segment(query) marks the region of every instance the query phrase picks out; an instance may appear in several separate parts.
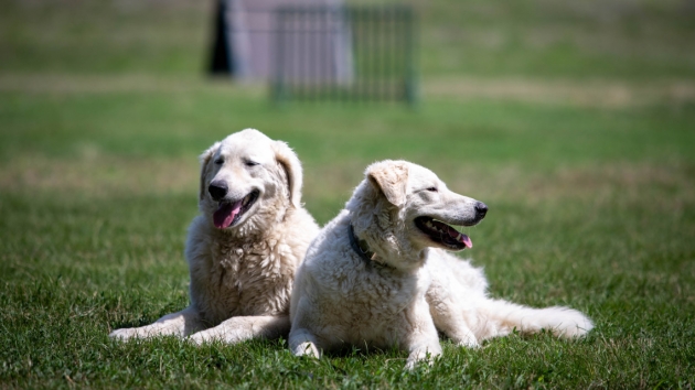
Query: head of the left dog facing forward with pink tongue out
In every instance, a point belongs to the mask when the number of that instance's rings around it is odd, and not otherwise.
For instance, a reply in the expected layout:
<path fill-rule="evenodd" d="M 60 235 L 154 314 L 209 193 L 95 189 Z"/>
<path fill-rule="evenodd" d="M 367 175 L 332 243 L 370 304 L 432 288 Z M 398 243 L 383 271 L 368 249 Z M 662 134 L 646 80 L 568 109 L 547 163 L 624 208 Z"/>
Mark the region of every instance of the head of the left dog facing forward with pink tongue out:
<path fill-rule="evenodd" d="M 218 229 L 274 223 L 300 207 L 299 159 L 282 141 L 246 129 L 216 142 L 201 155 L 201 213 Z"/>

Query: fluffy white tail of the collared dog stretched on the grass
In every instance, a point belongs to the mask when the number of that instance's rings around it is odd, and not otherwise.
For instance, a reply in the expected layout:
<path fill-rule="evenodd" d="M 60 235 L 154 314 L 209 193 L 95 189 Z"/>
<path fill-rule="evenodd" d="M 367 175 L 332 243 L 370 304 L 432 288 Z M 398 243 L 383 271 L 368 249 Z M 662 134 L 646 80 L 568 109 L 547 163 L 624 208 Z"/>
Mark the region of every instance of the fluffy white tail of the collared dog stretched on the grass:
<path fill-rule="evenodd" d="M 576 338 L 594 328 L 582 313 L 562 306 L 533 308 L 503 300 L 488 300 L 479 307 L 475 336 L 479 340 L 504 336 L 514 329 L 523 334 L 546 329 L 555 336 Z"/>

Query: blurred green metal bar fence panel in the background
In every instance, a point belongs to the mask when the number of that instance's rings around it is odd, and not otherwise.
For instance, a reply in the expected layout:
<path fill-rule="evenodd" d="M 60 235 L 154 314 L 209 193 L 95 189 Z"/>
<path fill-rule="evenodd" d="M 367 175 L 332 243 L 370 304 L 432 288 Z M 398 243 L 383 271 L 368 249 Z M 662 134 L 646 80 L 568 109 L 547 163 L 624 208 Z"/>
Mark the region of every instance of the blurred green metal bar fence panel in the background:
<path fill-rule="evenodd" d="M 275 101 L 416 100 L 408 7 L 280 7 L 274 11 Z"/>

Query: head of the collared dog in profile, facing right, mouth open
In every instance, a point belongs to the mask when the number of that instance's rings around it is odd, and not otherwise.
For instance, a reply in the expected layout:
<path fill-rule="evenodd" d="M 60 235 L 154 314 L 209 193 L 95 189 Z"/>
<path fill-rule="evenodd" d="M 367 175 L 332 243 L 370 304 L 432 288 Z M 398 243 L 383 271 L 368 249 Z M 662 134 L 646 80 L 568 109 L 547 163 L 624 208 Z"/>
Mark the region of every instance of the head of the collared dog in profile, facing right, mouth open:
<path fill-rule="evenodd" d="M 472 247 L 470 238 L 451 226 L 480 223 L 488 212 L 482 202 L 450 191 L 435 173 L 406 161 L 374 163 L 365 176 L 348 208 L 355 231 L 375 234 L 371 245 L 387 240 L 400 252 Z"/>

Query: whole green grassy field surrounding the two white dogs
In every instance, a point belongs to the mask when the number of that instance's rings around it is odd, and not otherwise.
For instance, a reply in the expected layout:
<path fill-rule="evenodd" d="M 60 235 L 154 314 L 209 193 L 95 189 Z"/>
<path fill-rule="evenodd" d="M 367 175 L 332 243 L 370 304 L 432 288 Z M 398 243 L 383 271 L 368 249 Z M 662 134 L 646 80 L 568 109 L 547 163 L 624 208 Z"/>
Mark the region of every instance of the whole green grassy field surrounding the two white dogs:
<path fill-rule="evenodd" d="M 685 2 L 419 4 L 425 96 L 414 110 L 275 108 L 256 87 L 200 77 L 205 4 L 71 6 L 2 1 L 0 12 L 0 388 L 695 383 Z M 443 357 L 415 372 L 404 353 L 363 346 L 310 360 L 285 340 L 110 340 L 188 304 L 197 155 L 245 127 L 297 151 L 320 223 L 375 160 L 432 169 L 491 208 L 464 254 L 493 296 L 569 305 L 596 329 L 478 350 L 442 340 Z"/>

